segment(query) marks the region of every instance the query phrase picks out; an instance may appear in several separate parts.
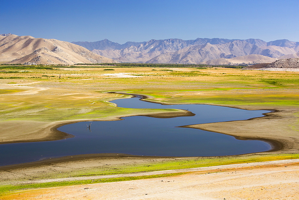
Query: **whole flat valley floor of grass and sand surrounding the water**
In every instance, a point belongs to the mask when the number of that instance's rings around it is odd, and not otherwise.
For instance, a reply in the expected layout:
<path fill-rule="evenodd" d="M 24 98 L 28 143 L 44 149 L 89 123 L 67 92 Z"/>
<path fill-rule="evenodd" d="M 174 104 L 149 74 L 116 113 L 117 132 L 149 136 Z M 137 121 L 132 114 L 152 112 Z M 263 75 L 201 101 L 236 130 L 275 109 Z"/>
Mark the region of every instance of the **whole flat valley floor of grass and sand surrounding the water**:
<path fill-rule="evenodd" d="M 242 71 L 226 68 L 155 68 L 154 71 L 153 68 L 114 68 L 115 71 L 112 72 L 115 74 L 127 73 L 135 76 L 119 78 L 107 77 L 103 69 L 105 68 L 57 67 L 47 70 L 30 69 L 28 72 L 22 72 L 24 70 L 1 72 L 0 143 L 59 140 L 71 137 L 56 130 L 65 123 L 117 120 L 118 117 L 145 114 L 167 113 L 169 116 L 184 114 L 181 110 L 144 111 L 115 107 L 109 103 L 113 99 L 129 96 L 107 92 L 122 91 L 147 95 L 148 101 L 166 104 L 213 104 L 249 110 L 276 111 L 268 113 L 265 117 L 245 121 L 191 125 L 190 128 L 229 134 L 238 139 L 266 139 L 275 143 L 275 151 L 213 158 L 214 161 L 217 159 L 218 161 L 206 166 L 298 158 L 298 72 Z M 60 75 L 62 78 L 59 78 Z M 211 162 L 204 157 L 136 158 L 125 155 L 122 156 L 126 157 L 124 159 L 120 158 L 121 155 L 108 155 L 103 159 L 101 156 L 94 156 L 86 159 L 86 156 L 82 155 L 51 162 L 45 160 L 33 165 L 2 167 L 0 193 L 4 185 L 22 185 L 24 181 L 31 181 L 29 179 L 40 181 L 92 174 L 128 174 L 166 170 L 170 169 L 169 167 L 182 169 Z M 190 163 L 193 166 L 189 166 Z M 296 197 L 298 199 L 298 194 L 293 190 L 299 188 L 299 180 L 296 179 L 297 166 L 298 163 L 287 167 L 244 168 L 235 170 L 236 173 L 234 169 L 227 173 L 192 172 L 155 179 L 38 189 L 22 193 L 25 196 L 20 196 L 20 199 L 68 199 L 72 195 L 77 199 L 296 199 Z M 139 171 L 134 171 L 137 167 Z M 147 167 L 152 168 L 147 170 Z M 19 197 L 10 196 L 10 198 Z"/>

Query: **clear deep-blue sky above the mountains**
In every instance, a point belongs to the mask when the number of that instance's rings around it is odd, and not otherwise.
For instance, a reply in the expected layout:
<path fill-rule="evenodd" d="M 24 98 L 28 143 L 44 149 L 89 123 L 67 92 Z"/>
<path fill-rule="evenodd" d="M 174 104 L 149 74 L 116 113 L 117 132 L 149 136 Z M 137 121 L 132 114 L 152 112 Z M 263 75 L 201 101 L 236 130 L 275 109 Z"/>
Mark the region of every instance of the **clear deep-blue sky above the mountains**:
<path fill-rule="evenodd" d="M 299 0 L 0 0 L 0 34 L 63 41 L 288 39 Z"/>

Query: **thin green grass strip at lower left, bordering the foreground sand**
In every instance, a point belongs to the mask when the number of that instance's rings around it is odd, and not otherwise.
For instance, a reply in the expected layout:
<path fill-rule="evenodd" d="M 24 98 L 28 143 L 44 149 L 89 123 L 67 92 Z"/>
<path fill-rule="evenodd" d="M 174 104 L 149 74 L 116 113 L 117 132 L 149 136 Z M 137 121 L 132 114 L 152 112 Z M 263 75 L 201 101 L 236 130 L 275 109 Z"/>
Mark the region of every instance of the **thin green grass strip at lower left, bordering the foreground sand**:
<path fill-rule="evenodd" d="M 108 182 L 117 182 L 117 181 L 132 181 L 132 180 L 140 180 L 140 179 L 148 179 L 148 178 L 161 178 L 167 176 L 181 175 L 185 173 L 189 173 L 189 172 L 148 175 L 148 176 L 120 177 L 120 178 L 101 178 L 101 179 L 80 180 L 80 181 L 61 181 L 61 182 L 49 182 L 49 183 L 37 183 L 37 184 L 4 185 L 4 186 L 0 186 L 0 196 L 7 195 L 9 193 L 15 193 L 20 190 L 70 186 L 70 185 L 80 185 L 80 184 L 108 183 Z"/>

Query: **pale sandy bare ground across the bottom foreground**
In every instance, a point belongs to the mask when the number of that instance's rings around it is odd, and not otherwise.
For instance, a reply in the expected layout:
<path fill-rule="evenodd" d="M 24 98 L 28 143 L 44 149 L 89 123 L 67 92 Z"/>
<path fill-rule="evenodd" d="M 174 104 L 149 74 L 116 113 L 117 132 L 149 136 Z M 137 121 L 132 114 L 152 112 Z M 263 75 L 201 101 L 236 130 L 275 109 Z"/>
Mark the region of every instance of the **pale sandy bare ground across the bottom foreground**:
<path fill-rule="evenodd" d="M 264 166 L 231 166 L 163 178 L 28 190 L 2 199 L 299 198 L 298 163 L 273 161 Z"/>

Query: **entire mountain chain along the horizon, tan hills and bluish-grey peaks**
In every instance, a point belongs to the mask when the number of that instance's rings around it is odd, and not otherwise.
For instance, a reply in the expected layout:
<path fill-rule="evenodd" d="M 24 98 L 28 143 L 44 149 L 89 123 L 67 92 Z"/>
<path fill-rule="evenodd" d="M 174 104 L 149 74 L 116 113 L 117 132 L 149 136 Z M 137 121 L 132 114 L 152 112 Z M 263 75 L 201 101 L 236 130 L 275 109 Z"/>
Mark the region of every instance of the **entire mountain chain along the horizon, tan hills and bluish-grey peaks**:
<path fill-rule="evenodd" d="M 91 50 L 91 51 L 90 51 Z M 0 62 L 8 64 L 183 63 L 256 64 L 299 58 L 299 42 L 197 38 L 115 43 L 65 42 L 0 34 Z"/>

